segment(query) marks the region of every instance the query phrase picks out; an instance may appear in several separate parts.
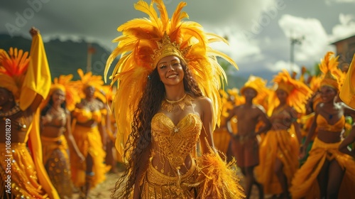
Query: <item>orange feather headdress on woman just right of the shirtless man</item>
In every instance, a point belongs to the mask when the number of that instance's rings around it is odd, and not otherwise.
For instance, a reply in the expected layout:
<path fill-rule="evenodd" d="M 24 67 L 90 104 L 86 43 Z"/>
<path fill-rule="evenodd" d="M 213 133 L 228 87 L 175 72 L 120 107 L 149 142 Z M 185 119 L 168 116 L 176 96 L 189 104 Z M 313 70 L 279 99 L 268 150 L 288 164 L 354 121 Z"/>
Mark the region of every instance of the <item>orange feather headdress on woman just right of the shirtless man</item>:
<path fill-rule="evenodd" d="M 287 70 L 279 72 L 273 78 L 277 90 L 284 90 L 288 93 L 287 103 L 290 107 L 293 107 L 299 113 L 305 113 L 305 103 L 307 99 L 311 97 L 312 90 L 300 80 L 293 79 Z M 273 111 L 272 107 L 278 106 L 278 99 L 273 94 L 269 100 L 268 114 Z"/>

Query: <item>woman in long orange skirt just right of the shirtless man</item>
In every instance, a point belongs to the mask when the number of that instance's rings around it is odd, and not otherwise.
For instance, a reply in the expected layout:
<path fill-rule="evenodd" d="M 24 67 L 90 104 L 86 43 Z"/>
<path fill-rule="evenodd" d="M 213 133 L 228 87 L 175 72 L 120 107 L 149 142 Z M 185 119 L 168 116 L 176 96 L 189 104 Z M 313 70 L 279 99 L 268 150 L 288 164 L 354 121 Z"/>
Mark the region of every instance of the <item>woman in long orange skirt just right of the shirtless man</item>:
<path fill-rule="evenodd" d="M 273 82 L 276 89 L 268 105 L 273 126 L 261 142 L 256 176 L 263 183 L 265 194 L 289 198 L 288 188 L 298 168 L 300 125 L 297 118 L 299 113 L 305 112 L 311 90 L 290 77 L 286 70 L 279 72 Z"/>

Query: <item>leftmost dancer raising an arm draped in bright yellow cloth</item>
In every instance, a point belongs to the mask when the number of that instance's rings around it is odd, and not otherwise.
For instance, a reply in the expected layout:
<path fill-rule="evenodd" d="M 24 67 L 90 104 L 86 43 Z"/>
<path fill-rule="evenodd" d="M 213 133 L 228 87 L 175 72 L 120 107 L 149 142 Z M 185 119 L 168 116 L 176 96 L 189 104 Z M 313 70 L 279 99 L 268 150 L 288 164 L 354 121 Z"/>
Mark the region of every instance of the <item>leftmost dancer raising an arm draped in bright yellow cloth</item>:
<path fill-rule="evenodd" d="M 39 136 L 38 107 L 50 90 L 50 71 L 39 31 L 30 33 L 30 58 L 17 48 L 9 54 L 0 49 L 0 127 L 6 129 L 0 136 L 0 198 L 59 198 L 43 166 Z"/>

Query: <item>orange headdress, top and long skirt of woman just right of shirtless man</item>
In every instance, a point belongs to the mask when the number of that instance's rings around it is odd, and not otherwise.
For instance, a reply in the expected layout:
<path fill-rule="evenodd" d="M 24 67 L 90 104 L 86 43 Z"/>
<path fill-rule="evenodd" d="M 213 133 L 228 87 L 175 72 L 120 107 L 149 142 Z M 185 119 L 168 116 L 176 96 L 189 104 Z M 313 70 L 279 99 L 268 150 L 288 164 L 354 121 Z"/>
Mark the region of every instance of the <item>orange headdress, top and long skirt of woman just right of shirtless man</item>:
<path fill-rule="evenodd" d="M 273 79 L 277 89 L 284 90 L 288 93 L 286 104 L 296 109 L 297 112 L 304 112 L 305 100 L 310 97 L 311 90 L 302 82 L 292 79 L 286 70 L 279 72 Z M 272 118 L 278 116 L 288 115 L 290 117 L 289 124 L 292 124 L 295 116 L 290 115 L 285 111 L 284 107 L 280 109 L 273 109 L 278 106 L 278 99 L 275 93 L 269 99 L 268 112 Z M 275 159 L 278 158 L 283 163 L 283 173 L 288 179 L 290 185 L 293 175 L 298 168 L 298 154 L 299 143 L 293 125 L 289 129 L 271 129 L 263 137 L 260 144 L 259 157 L 260 163 L 256 167 L 256 177 L 258 181 L 264 186 L 264 193 L 266 194 L 279 194 L 283 190 L 281 188 L 278 177 L 275 174 Z"/>

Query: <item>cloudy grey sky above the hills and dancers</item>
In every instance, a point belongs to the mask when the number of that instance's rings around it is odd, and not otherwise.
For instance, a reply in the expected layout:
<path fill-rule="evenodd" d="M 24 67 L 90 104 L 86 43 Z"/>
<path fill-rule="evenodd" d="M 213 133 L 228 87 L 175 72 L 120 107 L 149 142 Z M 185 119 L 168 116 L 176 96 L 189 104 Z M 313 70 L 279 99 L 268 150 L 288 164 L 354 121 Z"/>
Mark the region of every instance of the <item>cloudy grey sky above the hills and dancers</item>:
<path fill-rule="evenodd" d="M 0 1 L 0 33 L 28 37 L 31 26 L 45 41 L 52 38 L 94 41 L 112 50 L 116 28 L 145 17 L 132 0 Z M 148 1 L 148 0 L 147 0 Z M 163 0 L 171 14 L 179 1 Z M 226 36 L 229 45 L 214 44 L 233 58 L 239 75 L 267 80 L 282 68 L 313 68 L 330 43 L 355 35 L 355 0 L 187 0 L 184 11 L 205 31 Z M 290 64 L 290 40 L 294 65 Z"/>

